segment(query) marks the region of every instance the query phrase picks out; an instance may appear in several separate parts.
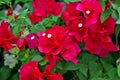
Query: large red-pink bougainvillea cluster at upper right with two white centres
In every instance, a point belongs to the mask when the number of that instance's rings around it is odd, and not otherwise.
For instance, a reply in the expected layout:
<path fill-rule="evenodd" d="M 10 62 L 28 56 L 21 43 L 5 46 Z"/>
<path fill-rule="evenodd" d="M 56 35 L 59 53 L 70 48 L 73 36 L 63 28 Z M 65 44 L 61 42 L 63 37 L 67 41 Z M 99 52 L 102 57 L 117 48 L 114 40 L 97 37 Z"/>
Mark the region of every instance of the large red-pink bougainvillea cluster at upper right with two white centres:
<path fill-rule="evenodd" d="M 107 57 L 109 52 L 118 51 L 110 35 L 114 33 L 116 21 L 110 16 L 103 23 L 100 15 L 103 12 L 98 0 L 82 0 L 70 3 L 62 14 L 68 34 L 78 42 L 85 43 L 85 49 L 91 54 Z"/>

